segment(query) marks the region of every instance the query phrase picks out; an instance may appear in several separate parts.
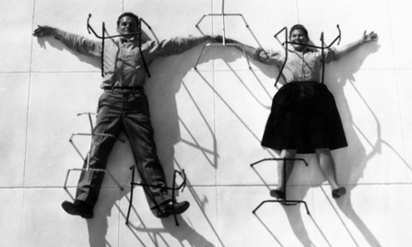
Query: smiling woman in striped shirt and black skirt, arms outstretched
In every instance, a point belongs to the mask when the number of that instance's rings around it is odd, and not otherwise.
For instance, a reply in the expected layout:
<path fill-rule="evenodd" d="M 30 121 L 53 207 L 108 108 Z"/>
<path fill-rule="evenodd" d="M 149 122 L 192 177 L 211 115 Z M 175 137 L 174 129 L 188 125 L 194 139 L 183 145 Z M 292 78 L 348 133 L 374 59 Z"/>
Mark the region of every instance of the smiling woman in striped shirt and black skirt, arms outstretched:
<path fill-rule="evenodd" d="M 339 60 L 340 56 L 378 38 L 373 31 L 340 48 L 324 50 L 325 63 Z M 282 72 L 287 82 L 273 98 L 270 116 L 262 138 L 262 146 L 279 150 L 281 158 L 295 158 L 296 153 L 316 153 L 322 173 L 330 183 L 332 197 L 346 194 L 339 186 L 331 149 L 347 147 L 348 143 L 340 121 L 338 108 L 329 89 L 321 81 L 322 52 L 305 46 L 309 42 L 307 30 L 297 24 L 289 32 L 292 49 Z M 228 43 L 239 43 L 227 39 Z M 242 44 L 247 55 L 263 64 L 281 67 L 284 52 L 253 48 Z M 239 47 L 240 49 L 240 47 Z M 243 49 L 242 49 L 243 50 Z M 285 200 L 284 179 L 292 172 L 294 162 L 278 164 L 279 182 L 270 195 Z M 283 169 L 286 168 L 286 176 Z"/>

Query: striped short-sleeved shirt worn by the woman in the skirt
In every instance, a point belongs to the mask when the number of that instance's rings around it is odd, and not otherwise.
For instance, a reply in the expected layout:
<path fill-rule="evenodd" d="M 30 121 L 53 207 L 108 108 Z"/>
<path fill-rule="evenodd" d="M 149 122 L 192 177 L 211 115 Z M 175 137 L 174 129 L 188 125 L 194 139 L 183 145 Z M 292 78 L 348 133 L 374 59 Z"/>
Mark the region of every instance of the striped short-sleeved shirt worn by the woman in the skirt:
<path fill-rule="evenodd" d="M 340 58 L 339 51 L 335 48 L 325 49 L 325 64 L 337 61 Z M 285 63 L 285 51 L 263 50 L 258 48 L 253 59 L 263 64 L 274 64 L 279 68 Z M 286 82 L 291 81 L 318 81 L 321 79 L 322 52 L 312 48 L 306 48 L 303 52 L 289 50 L 288 61 L 283 69 L 282 76 Z"/>

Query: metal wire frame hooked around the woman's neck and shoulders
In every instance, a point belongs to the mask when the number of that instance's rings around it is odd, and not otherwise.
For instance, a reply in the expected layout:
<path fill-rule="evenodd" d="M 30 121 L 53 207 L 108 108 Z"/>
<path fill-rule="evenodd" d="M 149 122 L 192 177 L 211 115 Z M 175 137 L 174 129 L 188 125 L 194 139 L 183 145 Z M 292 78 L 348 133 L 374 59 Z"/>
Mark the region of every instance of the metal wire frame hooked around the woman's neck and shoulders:
<path fill-rule="evenodd" d="M 285 64 L 286 64 L 287 61 L 288 61 L 288 44 L 291 44 L 291 45 L 300 45 L 300 46 L 304 46 L 304 47 L 313 47 L 313 48 L 320 48 L 320 49 L 322 49 L 322 81 L 321 81 L 321 82 L 322 82 L 322 84 L 323 84 L 323 78 L 324 78 L 324 75 L 325 75 L 325 59 L 324 59 L 324 58 L 325 58 L 325 55 L 324 55 L 324 50 L 325 50 L 325 49 L 329 49 L 337 40 L 339 40 L 339 42 L 338 42 L 338 45 L 339 45 L 340 39 L 341 39 L 341 33 L 340 33 L 339 25 L 336 25 L 336 26 L 337 26 L 337 28 L 338 28 L 338 30 L 339 30 L 339 35 L 338 35 L 335 39 L 333 39 L 333 41 L 330 43 L 329 46 L 326 46 L 326 47 L 324 46 L 325 43 L 324 43 L 323 32 L 321 33 L 322 46 L 321 46 L 321 47 L 317 47 L 317 46 L 313 46 L 313 45 L 309 45 L 309 44 L 300 44 L 300 43 L 295 43 L 295 42 L 289 42 L 289 41 L 288 41 L 288 28 L 285 27 L 285 28 L 279 30 L 279 32 L 277 32 L 277 33 L 274 35 L 274 37 L 279 41 L 279 43 L 280 43 L 280 45 L 281 45 L 282 47 L 285 46 L 285 62 L 282 64 L 282 67 L 280 68 L 280 71 L 279 71 L 279 74 L 278 74 L 278 78 L 276 79 L 276 82 L 275 82 L 275 87 L 276 87 L 276 85 L 278 84 L 280 75 L 282 74 L 283 69 L 285 68 Z M 278 38 L 278 35 L 279 35 L 282 31 L 285 31 L 285 42 L 281 42 L 281 41 L 279 40 L 279 38 Z"/>

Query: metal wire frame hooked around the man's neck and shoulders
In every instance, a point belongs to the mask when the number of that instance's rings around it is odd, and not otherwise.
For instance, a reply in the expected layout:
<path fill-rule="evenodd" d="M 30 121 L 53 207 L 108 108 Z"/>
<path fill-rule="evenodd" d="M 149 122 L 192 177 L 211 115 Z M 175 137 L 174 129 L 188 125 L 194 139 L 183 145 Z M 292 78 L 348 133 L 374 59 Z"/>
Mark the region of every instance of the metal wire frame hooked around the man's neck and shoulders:
<path fill-rule="evenodd" d="M 148 67 L 148 65 L 146 64 L 146 61 L 144 60 L 144 56 L 143 56 L 143 53 L 142 53 L 142 22 L 149 28 L 149 30 L 150 30 L 151 32 L 153 32 L 153 30 L 151 30 L 149 24 L 148 24 L 146 21 L 144 21 L 142 18 L 139 18 L 139 21 L 138 21 L 138 29 L 139 29 L 139 31 L 137 31 L 137 32 L 129 33 L 129 34 L 127 34 L 127 35 L 119 34 L 119 35 L 113 35 L 113 36 L 105 36 L 105 34 L 107 33 L 107 30 L 106 30 L 106 28 L 105 28 L 105 22 L 103 21 L 103 22 L 102 22 L 102 31 L 101 31 L 102 34 L 101 34 L 101 36 L 99 36 L 99 35 L 96 33 L 96 31 L 93 30 L 93 28 L 91 28 L 91 26 L 90 26 L 90 18 L 91 18 L 91 13 L 89 13 L 89 18 L 87 19 L 87 30 L 89 31 L 89 34 L 90 34 L 90 30 L 91 30 L 91 32 L 93 32 L 93 34 L 94 34 L 97 38 L 102 39 L 102 40 L 101 40 L 101 44 L 102 44 L 102 45 L 101 45 L 101 76 L 102 76 L 102 77 L 105 76 L 105 68 L 104 68 L 105 39 L 106 39 L 106 38 L 124 37 L 124 36 L 130 36 L 130 35 L 137 35 L 137 36 L 139 36 L 139 53 L 140 53 L 140 55 L 142 56 L 143 65 L 144 65 L 144 70 L 147 72 L 148 77 L 150 77 L 149 67 Z"/>

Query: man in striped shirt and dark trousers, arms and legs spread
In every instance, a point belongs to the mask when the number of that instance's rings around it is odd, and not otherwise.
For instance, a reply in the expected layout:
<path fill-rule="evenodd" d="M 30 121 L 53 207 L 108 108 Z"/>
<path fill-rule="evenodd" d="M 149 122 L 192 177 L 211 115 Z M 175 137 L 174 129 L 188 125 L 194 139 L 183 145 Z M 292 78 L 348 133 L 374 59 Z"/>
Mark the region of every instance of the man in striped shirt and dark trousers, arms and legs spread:
<path fill-rule="evenodd" d="M 139 52 L 139 18 L 133 13 L 123 13 L 117 19 L 117 32 L 120 38 L 105 40 L 104 57 L 101 57 L 101 42 L 58 30 L 48 26 L 39 26 L 33 36 L 54 36 L 65 46 L 83 55 L 103 59 L 104 78 L 99 98 L 98 117 L 94 133 L 117 136 L 124 130 L 131 143 L 142 181 L 153 187 L 145 192 L 153 200 L 150 209 L 158 209 L 157 217 L 182 214 L 189 208 L 188 201 L 176 202 L 167 195 L 167 186 L 162 166 L 156 153 L 153 129 L 150 123 L 149 105 L 143 86 L 146 77 L 144 62 Z M 204 41 L 213 41 L 209 36 L 172 38 L 160 43 L 148 41 L 142 45 L 144 60 L 176 55 Z M 115 139 L 107 136 L 95 136 L 90 151 L 90 167 L 104 169 Z M 86 166 L 86 163 L 84 164 Z M 93 217 L 93 208 L 99 197 L 99 190 L 104 173 L 82 172 L 74 202 L 64 201 L 63 209 L 71 215 L 84 218 Z"/>

